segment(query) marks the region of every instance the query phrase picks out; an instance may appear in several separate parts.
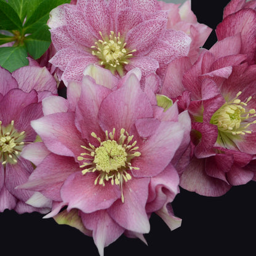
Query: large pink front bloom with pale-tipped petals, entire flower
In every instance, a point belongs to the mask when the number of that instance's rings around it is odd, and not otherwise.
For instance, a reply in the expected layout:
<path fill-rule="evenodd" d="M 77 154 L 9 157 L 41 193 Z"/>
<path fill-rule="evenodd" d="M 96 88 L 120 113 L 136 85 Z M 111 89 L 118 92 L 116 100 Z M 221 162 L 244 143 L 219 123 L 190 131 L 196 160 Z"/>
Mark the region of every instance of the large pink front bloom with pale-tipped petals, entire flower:
<path fill-rule="evenodd" d="M 171 229 L 180 226 L 170 206 L 179 183 L 170 162 L 188 146 L 190 118 L 179 116 L 176 104 L 165 111 L 152 105 L 138 70 L 118 81 L 109 70 L 89 69 L 85 73 L 96 79 L 86 75 L 82 82 L 70 82 L 67 100 L 43 101 L 45 116 L 31 122 L 42 142 L 23 153 L 38 165 L 19 188 L 51 199 L 47 217 L 55 216 L 58 223 L 66 218 L 93 236 L 103 255 L 122 233 L 144 241 L 152 212 Z M 31 156 L 35 149 L 38 157 Z"/>

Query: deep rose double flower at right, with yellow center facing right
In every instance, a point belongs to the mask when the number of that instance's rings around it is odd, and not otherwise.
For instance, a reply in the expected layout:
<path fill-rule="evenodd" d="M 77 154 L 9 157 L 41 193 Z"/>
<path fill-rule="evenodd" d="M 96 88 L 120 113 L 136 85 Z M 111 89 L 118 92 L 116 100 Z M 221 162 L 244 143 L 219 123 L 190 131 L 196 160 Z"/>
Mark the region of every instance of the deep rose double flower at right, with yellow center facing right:
<path fill-rule="evenodd" d="M 254 177 L 256 65 L 244 63 L 241 47 L 238 34 L 204 50 L 194 65 L 188 58 L 174 60 L 161 90 L 191 115 L 193 154 L 180 185 L 206 196 Z"/>

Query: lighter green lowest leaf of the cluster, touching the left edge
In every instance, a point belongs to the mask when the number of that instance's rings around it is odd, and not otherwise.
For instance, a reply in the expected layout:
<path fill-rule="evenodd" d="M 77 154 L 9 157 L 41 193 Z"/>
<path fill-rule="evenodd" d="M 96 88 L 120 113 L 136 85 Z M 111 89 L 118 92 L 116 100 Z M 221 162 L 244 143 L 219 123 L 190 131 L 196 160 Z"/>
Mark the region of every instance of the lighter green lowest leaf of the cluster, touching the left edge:
<path fill-rule="evenodd" d="M 28 65 L 25 46 L 0 47 L 0 66 L 10 72 Z"/>

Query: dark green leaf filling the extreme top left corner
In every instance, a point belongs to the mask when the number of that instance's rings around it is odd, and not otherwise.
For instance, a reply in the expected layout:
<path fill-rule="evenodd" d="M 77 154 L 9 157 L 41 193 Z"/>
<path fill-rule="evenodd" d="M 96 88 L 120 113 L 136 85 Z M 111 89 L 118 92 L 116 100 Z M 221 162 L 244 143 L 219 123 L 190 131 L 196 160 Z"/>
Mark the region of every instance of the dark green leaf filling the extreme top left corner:
<path fill-rule="evenodd" d="M 22 28 L 22 22 L 18 14 L 4 0 L 0 0 L 0 17 L 0 30 L 18 30 Z"/>

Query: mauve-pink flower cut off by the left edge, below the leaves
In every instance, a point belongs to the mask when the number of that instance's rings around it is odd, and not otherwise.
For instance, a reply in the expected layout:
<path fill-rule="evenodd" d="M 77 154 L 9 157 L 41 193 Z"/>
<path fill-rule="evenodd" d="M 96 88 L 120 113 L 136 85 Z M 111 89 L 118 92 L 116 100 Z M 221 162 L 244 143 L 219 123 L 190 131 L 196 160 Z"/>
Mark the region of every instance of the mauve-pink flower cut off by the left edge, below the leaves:
<path fill-rule="evenodd" d="M 14 209 L 20 214 L 46 213 L 49 209 L 25 203 L 33 192 L 15 187 L 26 182 L 33 172 L 31 162 L 20 153 L 25 145 L 36 140 L 30 121 L 43 115 L 40 99 L 57 93 L 55 79 L 46 68 L 33 66 L 12 74 L 0 67 L 0 77 L 0 212 Z"/>

